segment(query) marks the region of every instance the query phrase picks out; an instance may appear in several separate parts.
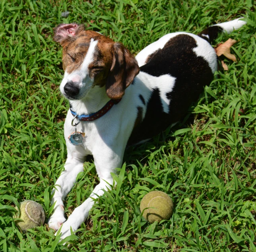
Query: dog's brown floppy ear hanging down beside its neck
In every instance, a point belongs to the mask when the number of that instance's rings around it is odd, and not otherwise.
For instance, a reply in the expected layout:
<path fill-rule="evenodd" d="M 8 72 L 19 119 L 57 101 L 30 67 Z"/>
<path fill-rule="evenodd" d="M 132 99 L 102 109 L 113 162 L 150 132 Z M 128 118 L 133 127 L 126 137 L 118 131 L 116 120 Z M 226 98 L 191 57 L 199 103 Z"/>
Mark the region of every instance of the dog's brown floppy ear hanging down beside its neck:
<path fill-rule="evenodd" d="M 112 54 L 113 60 L 107 77 L 106 92 L 109 98 L 119 99 L 140 72 L 140 68 L 137 60 L 122 44 L 115 43 Z"/>

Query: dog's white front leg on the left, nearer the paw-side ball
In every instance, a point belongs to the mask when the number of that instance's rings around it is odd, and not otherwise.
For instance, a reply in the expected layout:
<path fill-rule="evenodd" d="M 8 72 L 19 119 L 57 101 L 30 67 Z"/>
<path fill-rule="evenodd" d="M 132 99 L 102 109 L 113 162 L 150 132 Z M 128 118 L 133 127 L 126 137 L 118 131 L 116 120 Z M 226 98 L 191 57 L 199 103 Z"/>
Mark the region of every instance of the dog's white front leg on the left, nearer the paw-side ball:
<path fill-rule="evenodd" d="M 54 206 L 54 211 L 48 219 L 49 227 L 54 230 L 58 230 L 62 223 L 66 221 L 64 216 L 63 200 L 74 186 L 78 173 L 83 171 L 84 161 L 85 158 L 77 158 L 73 155 L 70 155 L 64 165 L 65 170 L 62 171 L 60 177 L 55 183 L 56 189 L 52 190 L 52 194 L 54 195 L 52 197 L 51 204 L 53 205 L 54 202 L 56 203 Z"/>

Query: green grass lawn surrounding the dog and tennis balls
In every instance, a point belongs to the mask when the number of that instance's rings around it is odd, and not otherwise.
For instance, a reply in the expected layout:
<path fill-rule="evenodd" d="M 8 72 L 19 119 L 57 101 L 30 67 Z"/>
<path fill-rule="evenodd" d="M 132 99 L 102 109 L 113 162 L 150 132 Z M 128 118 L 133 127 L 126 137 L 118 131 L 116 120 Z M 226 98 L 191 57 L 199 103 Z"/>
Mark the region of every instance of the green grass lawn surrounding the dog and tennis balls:
<path fill-rule="evenodd" d="M 1 1 L 0 8 L 0 251 L 252 251 L 256 252 L 256 12 L 253 1 L 90 0 Z M 68 18 L 61 12 L 70 11 Z M 174 31 L 199 33 L 213 23 L 248 16 L 231 35 L 238 62 L 225 59 L 189 115 L 175 129 L 127 149 L 118 185 L 106 192 L 70 246 L 45 224 L 21 233 L 13 219 L 23 200 L 52 212 L 50 192 L 66 158 L 60 95 L 59 23 L 77 21 L 138 53 Z M 65 202 L 66 215 L 98 183 L 85 163 Z M 151 190 L 175 203 L 169 221 L 149 224 L 139 211 Z"/>

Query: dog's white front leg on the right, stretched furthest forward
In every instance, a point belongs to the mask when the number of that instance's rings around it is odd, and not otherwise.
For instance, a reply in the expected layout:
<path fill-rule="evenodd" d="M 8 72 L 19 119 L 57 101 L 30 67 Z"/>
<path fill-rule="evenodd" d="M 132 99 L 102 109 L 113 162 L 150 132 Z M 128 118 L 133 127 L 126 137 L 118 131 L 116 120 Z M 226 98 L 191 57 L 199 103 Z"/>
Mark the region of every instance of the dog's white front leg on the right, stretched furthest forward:
<path fill-rule="evenodd" d="M 89 211 L 93 207 L 95 201 L 94 199 L 102 196 L 104 194 L 103 190 L 111 190 L 111 186 L 113 185 L 111 173 L 115 173 L 116 167 L 121 167 L 123 152 L 124 147 L 116 150 L 116 152 L 111 149 L 107 149 L 106 151 L 99 149 L 99 151 L 96 151 L 97 154 L 94 155 L 94 163 L 97 174 L 100 178 L 100 183 L 95 186 L 90 197 L 85 200 L 83 204 L 76 207 L 76 209 L 74 209 L 72 214 L 68 217 L 67 221 L 63 223 L 60 231 L 62 233 L 60 237 L 61 240 L 71 235 L 70 227 L 72 228 L 72 231 L 76 231 L 87 219 Z"/>

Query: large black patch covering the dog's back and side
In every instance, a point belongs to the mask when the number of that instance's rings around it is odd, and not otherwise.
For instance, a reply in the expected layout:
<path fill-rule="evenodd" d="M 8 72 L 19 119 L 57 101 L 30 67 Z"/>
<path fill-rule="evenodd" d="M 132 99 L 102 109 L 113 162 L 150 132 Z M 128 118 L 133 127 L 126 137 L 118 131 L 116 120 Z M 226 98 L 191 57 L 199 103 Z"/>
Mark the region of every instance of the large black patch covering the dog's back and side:
<path fill-rule="evenodd" d="M 154 89 L 147 103 L 145 118 L 134 128 L 128 145 L 152 138 L 181 120 L 191 103 L 198 99 L 204 86 L 211 83 L 211 68 L 203 57 L 196 55 L 193 51 L 195 47 L 194 38 L 185 34 L 177 35 L 140 68 L 152 76 L 169 74 L 176 80 L 173 91 L 166 94 L 170 99 L 169 114 L 163 112 L 159 89 Z"/>

